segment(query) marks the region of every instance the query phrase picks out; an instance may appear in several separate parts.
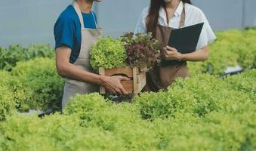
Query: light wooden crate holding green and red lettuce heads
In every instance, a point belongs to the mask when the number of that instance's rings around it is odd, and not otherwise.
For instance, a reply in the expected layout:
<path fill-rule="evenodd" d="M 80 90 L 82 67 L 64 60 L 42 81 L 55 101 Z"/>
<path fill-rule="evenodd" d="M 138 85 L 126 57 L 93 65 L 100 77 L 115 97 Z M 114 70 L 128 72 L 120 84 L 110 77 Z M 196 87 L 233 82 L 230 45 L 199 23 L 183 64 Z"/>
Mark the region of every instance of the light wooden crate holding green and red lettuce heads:
<path fill-rule="evenodd" d="M 137 94 L 142 91 L 146 85 L 146 72 L 140 71 L 137 67 L 116 67 L 114 69 L 99 69 L 100 75 L 113 76 L 113 75 L 124 75 L 130 78 L 129 81 L 122 81 L 121 84 L 130 94 Z M 100 94 L 106 94 L 104 87 L 100 86 Z"/>

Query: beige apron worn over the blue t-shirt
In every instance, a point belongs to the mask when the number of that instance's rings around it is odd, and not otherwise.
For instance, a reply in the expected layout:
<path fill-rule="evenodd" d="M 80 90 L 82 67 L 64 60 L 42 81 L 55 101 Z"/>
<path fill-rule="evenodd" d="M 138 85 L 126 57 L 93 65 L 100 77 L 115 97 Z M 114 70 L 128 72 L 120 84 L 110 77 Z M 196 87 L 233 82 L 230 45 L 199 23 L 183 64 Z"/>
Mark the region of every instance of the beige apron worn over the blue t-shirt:
<path fill-rule="evenodd" d="M 92 45 L 96 44 L 97 39 L 102 35 L 102 29 L 85 29 L 84 20 L 82 17 L 82 12 L 79 9 L 79 5 L 76 1 L 73 2 L 73 7 L 76 10 L 76 14 L 79 16 L 81 23 L 81 32 L 82 32 L 82 41 L 80 54 L 77 58 L 74 65 L 79 66 L 80 69 L 83 69 L 88 72 L 92 72 L 91 65 L 89 62 L 90 51 Z M 92 13 L 93 17 L 94 14 Z M 94 17 L 94 23 L 97 27 L 97 23 Z M 85 82 L 79 82 L 72 79 L 66 79 L 64 88 L 63 88 L 63 98 L 62 98 L 62 107 L 66 106 L 70 97 L 74 97 L 76 94 L 89 94 L 93 92 L 98 92 L 98 85 L 91 85 Z"/>

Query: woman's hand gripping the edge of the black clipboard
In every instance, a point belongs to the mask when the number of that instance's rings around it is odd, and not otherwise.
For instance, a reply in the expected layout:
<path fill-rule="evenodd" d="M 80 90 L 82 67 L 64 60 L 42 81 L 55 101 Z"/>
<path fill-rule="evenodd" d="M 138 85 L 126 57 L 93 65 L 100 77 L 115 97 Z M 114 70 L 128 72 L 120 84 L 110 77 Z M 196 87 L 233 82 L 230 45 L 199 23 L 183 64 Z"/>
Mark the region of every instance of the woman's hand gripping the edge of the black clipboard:
<path fill-rule="evenodd" d="M 163 48 L 163 57 L 165 60 L 181 60 L 181 54 L 175 48 L 166 46 Z"/>

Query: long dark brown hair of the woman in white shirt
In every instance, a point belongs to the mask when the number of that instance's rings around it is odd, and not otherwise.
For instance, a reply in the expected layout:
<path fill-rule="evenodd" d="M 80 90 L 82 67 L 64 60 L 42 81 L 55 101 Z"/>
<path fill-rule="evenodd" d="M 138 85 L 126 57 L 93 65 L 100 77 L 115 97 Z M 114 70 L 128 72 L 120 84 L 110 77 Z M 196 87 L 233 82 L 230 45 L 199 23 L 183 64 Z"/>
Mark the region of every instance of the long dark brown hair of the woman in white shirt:
<path fill-rule="evenodd" d="M 181 1 L 192 5 L 190 0 L 181 0 Z M 159 19 L 159 10 L 161 7 L 165 8 L 164 0 L 151 0 L 150 11 L 147 16 L 147 32 L 152 32 L 154 36 L 155 36 L 156 26 Z"/>

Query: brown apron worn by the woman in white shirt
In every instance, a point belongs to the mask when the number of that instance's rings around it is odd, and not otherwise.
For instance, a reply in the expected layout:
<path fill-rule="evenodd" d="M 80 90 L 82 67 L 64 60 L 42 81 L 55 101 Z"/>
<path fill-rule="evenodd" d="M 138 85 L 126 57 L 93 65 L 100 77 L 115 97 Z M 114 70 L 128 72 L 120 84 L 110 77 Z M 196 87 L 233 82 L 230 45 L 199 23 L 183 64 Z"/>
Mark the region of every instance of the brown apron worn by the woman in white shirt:
<path fill-rule="evenodd" d="M 185 5 L 184 5 L 185 6 Z M 185 8 L 182 11 L 180 17 L 180 27 L 185 25 Z M 164 48 L 168 45 L 168 40 L 171 35 L 173 28 L 161 26 L 156 26 L 156 36 L 155 38 L 161 42 Z M 159 91 L 160 89 L 166 89 L 169 85 L 174 82 L 177 77 L 187 77 L 188 69 L 187 62 L 180 61 L 168 66 L 155 66 L 153 70 L 147 73 L 147 85 L 143 88 L 143 91 Z"/>

